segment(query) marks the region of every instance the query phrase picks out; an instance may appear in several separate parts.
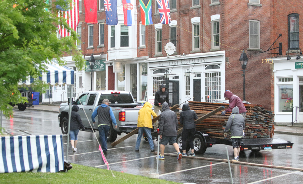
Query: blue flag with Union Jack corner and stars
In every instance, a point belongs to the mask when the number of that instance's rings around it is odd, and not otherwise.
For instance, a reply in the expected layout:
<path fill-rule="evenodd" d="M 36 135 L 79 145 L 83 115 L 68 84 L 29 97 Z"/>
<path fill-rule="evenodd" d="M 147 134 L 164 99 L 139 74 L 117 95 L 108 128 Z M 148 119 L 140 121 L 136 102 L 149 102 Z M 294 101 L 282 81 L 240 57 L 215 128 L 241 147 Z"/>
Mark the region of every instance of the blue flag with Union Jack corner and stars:
<path fill-rule="evenodd" d="M 104 0 L 107 25 L 118 24 L 117 0 Z"/>

